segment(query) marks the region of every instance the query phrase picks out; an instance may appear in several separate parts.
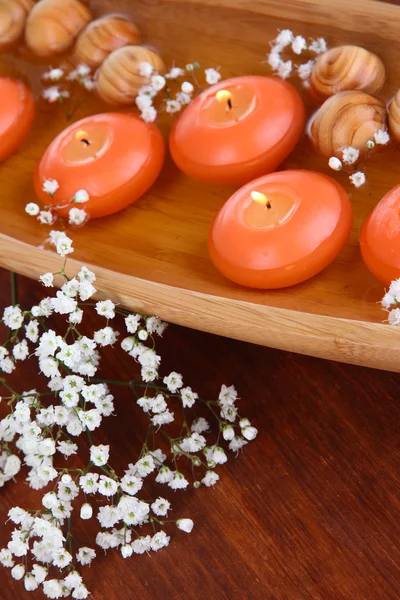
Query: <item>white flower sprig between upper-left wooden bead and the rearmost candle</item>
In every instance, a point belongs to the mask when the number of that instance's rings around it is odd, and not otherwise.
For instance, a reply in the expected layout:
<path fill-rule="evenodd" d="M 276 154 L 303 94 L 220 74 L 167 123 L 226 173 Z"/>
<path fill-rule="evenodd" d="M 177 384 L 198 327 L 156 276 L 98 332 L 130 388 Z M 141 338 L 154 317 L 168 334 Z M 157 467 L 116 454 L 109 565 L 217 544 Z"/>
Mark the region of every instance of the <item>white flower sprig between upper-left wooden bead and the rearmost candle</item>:
<path fill-rule="evenodd" d="M 135 101 L 141 118 L 148 123 L 153 123 L 156 120 L 157 110 L 154 106 L 154 101 L 160 92 L 163 92 L 164 95 L 162 108 L 166 113 L 177 113 L 189 104 L 195 92 L 195 85 L 198 91 L 201 91 L 201 87 L 194 74 L 198 68 L 198 63 L 188 64 L 184 69 L 174 66 L 163 76 L 155 71 L 150 63 L 140 63 L 139 74 L 148 80 L 148 83 L 140 88 Z M 182 82 L 178 81 L 186 78 L 188 75 L 192 77 L 195 85 L 186 79 Z M 221 79 L 221 74 L 216 69 L 205 69 L 204 75 L 208 85 L 213 85 Z M 173 81 L 179 85 L 175 95 L 171 90 L 171 83 Z"/>

